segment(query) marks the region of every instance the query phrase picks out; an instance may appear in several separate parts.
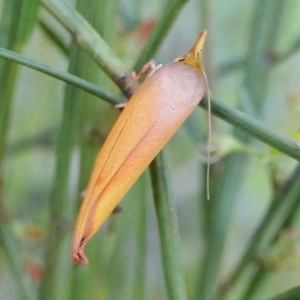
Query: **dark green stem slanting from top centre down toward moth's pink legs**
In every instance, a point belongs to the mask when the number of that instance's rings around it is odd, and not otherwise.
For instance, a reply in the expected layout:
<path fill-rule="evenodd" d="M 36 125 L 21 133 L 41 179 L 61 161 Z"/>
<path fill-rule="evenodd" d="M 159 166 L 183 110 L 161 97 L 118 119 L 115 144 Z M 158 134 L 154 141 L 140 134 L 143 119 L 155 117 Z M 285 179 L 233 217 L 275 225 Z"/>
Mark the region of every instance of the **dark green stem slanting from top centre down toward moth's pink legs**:
<path fill-rule="evenodd" d="M 186 3 L 185 0 L 167 1 L 165 7 L 161 10 L 162 16 L 159 22 L 133 67 L 134 70 L 141 70 L 143 65 L 153 58 Z"/>

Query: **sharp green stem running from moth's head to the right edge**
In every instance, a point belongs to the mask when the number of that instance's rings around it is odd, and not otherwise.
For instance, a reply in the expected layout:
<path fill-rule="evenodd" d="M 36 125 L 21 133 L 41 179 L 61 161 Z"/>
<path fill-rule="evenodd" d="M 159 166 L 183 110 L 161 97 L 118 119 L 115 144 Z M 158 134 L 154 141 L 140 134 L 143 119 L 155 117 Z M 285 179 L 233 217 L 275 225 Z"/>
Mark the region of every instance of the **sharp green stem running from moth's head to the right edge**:
<path fill-rule="evenodd" d="M 199 106 L 207 109 L 207 99 L 203 99 Z M 299 144 L 268 129 L 249 115 L 239 110 L 230 108 L 214 97 L 211 101 L 211 110 L 213 115 L 220 117 L 227 123 L 244 130 L 261 142 L 266 143 L 280 152 L 300 161 Z"/>

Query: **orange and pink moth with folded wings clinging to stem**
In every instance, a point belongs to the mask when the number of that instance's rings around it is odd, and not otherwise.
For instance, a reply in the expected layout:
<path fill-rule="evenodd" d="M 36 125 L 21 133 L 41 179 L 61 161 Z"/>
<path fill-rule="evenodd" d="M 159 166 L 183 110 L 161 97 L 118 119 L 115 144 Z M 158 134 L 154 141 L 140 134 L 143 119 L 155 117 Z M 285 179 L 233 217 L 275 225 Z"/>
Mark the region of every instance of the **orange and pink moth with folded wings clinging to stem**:
<path fill-rule="evenodd" d="M 208 90 L 201 64 L 207 32 L 187 55 L 151 73 L 136 90 L 95 162 L 80 208 L 72 261 L 88 263 L 84 246 Z"/>

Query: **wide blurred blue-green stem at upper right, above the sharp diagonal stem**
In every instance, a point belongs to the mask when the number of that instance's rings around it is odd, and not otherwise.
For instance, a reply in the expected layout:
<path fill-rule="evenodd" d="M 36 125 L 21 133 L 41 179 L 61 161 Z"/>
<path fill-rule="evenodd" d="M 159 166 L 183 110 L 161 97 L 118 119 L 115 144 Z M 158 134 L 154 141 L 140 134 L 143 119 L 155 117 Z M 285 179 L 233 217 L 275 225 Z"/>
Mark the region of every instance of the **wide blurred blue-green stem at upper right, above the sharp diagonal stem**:
<path fill-rule="evenodd" d="M 254 8 L 243 88 L 249 95 L 253 113 L 258 116 L 264 105 L 271 69 L 266 57 L 270 51 L 276 50 L 285 5 L 286 1 L 282 0 L 275 5 L 272 0 L 256 0 Z M 245 103 L 242 105 L 244 108 Z"/>

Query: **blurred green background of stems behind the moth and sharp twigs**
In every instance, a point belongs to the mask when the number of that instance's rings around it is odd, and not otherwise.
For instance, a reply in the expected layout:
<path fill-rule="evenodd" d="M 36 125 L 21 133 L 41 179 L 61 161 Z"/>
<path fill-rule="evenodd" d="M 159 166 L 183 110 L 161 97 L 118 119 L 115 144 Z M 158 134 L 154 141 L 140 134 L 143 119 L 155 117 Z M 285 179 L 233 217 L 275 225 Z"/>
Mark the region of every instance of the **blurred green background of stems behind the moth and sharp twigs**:
<path fill-rule="evenodd" d="M 56 1 L 0 0 L 0 46 L 121 95 L 47 2 Z M 211 95 L 299 142 L 299 1 L 66 2 L 129 71 L 145 62 L 149 39 L 151 58 L 166 64 L 207 29 Z M 88 244 L 90 265 L 70 262 L 80 194 L 118 112 L 2 58 L 0 78 L 0 299 L 179 299 L 164 284 L 148 171 Z M 212 118 L 210 201 L 206 111 L 197 109 L 165 150 L 186 299 L 271 299 L 300 283 L 298 163 Z"/>

